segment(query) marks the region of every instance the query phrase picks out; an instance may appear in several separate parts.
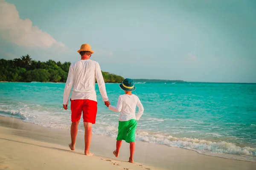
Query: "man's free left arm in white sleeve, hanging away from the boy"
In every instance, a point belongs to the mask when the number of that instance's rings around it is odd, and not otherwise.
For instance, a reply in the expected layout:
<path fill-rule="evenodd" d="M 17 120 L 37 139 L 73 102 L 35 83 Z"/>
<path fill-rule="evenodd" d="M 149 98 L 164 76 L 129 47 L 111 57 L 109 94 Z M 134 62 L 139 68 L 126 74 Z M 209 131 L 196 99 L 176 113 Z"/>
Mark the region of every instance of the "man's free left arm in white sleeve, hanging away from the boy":
<path fill-rule="evenodd" d="M 73 86 L 73 68 L 70 65 L 66 85 L 65 85 L 65 88 L 64 88 L 64 94 L 63 94 L 63 108 L 65 110 L 67 110 L 67 106 L 65 106 L 65 105 L 68 104 L 68 99 L 69 99 L 69 96 L 70 96 L 72 86 Z"/>

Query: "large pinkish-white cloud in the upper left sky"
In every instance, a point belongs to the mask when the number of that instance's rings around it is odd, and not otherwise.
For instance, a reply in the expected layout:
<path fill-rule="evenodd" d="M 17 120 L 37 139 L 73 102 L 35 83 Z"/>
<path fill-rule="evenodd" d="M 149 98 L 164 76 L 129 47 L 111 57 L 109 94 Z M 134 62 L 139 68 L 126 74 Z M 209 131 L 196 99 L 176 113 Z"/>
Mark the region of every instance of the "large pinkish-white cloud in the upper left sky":
<path fill-rule="evenodd" d="M 16 6 L 5 0 L 0 0 L 0 35 L 4 40 L 24 47 L 65 46 L 38 26 L 32 26 L 31 20 L 20 19 Z"/>

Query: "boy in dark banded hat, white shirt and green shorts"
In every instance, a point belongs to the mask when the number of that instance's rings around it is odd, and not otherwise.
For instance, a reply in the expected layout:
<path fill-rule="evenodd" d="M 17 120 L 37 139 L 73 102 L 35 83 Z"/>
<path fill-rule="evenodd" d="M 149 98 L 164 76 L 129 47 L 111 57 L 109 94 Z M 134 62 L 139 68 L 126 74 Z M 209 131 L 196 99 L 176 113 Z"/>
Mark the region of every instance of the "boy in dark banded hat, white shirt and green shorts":
<path fill-rule="evenodd" d="M 119 156 L 122 140 L 125 140 L 125 142 L 130 143 L 129 162 L 134 163 L 135 131 L 137 127 L 137 120 L 139 120 L 143 114 L 144 108 L 139 97 L 131 94 L 131 92 L 136 89 L 132 79 L 125 79 L 119 86 L 125 91 L 125 94 L 119 96 L 116 107 L 110 104 L 107 105 L 109 110 L 121 112 L 118 125 L 118 135 L 116 138 L 116 150 L 113 151 L 113 154 L 116 157 Z M 135 115 L 136 106 L 138 106 L 139 112 Z"/>

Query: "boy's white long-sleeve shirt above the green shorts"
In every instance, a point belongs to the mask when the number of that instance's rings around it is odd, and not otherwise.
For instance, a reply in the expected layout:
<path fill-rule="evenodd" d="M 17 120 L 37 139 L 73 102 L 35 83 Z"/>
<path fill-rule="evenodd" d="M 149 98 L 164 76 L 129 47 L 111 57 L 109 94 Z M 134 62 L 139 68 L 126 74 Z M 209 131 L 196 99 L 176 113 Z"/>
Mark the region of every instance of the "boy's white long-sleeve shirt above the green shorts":
<path fill-rule="evenodd" d="M 139 111 L 136 114 L 136 106 L 138 106 Z M 128 121 L 131 119 L 139 120 L 141 115 L 143 114 L 144 108 L 140 102 L 138 96 L 132 95 L 121 95 L 118 98 L 118 102 L 116 107 L 109 105 L 109 110 L 114 112 L 121 112 L 119 121 Z"/>

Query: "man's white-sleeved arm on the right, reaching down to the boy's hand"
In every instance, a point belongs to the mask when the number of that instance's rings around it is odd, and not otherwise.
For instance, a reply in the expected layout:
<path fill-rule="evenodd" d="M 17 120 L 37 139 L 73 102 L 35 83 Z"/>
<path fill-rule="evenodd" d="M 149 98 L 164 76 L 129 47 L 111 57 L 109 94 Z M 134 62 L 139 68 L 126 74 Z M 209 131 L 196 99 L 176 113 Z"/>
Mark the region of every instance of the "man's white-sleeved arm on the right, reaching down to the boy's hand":
<path fill-rule="evenodd" d="M 96 64 L 96 73 L 95 74 L 96 74 L 96 80 L 97 80 L 97 83 L 99 86 L 99 92 L 102 95 L 102 99 L 106 105 L 106 102 L 108 102 L 108 96 L 107 96 L 107 92 L 106 92 L 105 82 L 104 82 L 102 72 L 101 72 L 98 62 Z"/>

